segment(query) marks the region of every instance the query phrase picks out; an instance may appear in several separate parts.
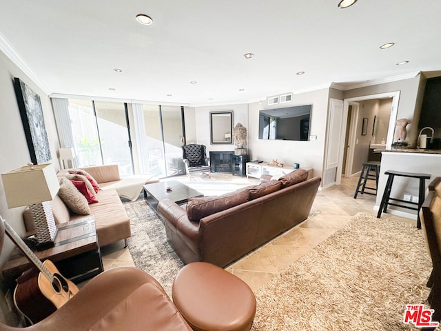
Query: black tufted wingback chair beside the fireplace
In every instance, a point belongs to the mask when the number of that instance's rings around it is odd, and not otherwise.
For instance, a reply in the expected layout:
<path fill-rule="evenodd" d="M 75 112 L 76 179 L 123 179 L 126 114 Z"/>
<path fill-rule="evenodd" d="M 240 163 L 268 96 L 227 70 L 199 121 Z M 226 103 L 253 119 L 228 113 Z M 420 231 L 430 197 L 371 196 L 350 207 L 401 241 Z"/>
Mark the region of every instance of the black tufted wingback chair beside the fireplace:
<path fill-rule="evenodd" d="M 192 174 L 202 173 L 210 177 L 209 157 L 205 153 L 205 145 L 191 143 L 182 146 L 185 172 L 192 179 Z"/>

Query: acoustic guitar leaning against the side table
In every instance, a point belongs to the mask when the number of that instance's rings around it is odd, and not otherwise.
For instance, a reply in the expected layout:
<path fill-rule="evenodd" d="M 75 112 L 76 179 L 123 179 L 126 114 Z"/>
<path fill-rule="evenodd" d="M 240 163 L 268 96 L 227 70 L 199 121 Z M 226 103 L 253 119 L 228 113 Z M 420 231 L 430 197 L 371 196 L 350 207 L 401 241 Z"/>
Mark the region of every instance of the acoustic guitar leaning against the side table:
<path fill-rule="evenodd" d="M 79 290 L 72 281 L 60 274 L 52 261 L 41 262 L 17 232 L 1 216 L 0 219 L 8 237 L 37 268 L 23 272 L 17 279 L 14 304 L 30 323 L 38 323 L 68 302 Z"/>

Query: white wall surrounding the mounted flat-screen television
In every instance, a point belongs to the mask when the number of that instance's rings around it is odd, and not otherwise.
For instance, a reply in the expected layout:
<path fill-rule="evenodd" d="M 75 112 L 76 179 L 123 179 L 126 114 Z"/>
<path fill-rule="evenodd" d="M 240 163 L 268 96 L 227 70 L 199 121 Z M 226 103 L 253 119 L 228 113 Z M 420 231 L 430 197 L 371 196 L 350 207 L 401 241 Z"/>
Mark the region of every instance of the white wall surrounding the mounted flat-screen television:
<path fill-rule="evenodd" d="M 293 101 L 286 106 L 312 105 L 309 135 L 317 136 L 315 141 L 259 140 L 259 110 L 274 108 L 266 101 L 249 104 L 248 147 L 251 159 L 271 161 L 277 159 L 285 165 L 300 163 L 302 168 L 314 168 L 314 176 L 322 176 L 325 151 L 325 132 L 329 89 L 294 94 Z"/>

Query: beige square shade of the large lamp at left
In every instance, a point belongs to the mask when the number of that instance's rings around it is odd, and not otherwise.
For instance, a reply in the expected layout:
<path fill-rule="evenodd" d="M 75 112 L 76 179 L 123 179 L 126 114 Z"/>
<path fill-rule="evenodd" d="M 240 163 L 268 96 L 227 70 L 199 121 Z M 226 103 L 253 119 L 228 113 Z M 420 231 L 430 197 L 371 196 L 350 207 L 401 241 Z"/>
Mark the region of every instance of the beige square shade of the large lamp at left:
<path fill-rule="evenodd" d="M 1 179 L 8 208 L 52 200 L 60 188 L 52 163 L 21 167 L 1 174 Z"/>

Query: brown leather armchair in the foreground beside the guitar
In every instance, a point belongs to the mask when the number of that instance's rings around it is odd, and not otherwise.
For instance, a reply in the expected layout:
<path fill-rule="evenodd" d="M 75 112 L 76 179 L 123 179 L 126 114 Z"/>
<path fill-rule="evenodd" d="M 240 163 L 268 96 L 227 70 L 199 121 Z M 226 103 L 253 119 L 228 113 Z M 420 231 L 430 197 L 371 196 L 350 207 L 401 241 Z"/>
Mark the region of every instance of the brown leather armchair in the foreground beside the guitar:
<path fill-rule="evenodd" d="M 0 253 L 5 226 L 0 217 Z M 38 259 L 38 258 L 37 258 Z M 41 274 L 41 277 L 43 274 Z M 38 281 L 40 283 L 40 281 Z M 50 299 L 42 293 L 34 278 L 35 291 L 28 286 L 32 307 L 46 307 Z M 45 289 L 50 292 L 50 287 Z M 57 297 L 58 292 L 53 290 Z M 61 296 L 61 294 L 58 294 Z M 45 305 L 43 305 L 45 303 Z M 50 303 L 53 306 L 53 303 Z M 117 267 L 102 272 L 85 284 L 72 299 L 43 320 L 28 328 L 0 323 L 1 331 L 108 331 L 108 330 L 183 330 L 192 331 L 172 300 L 156 279 L 142 270 Z"/>

